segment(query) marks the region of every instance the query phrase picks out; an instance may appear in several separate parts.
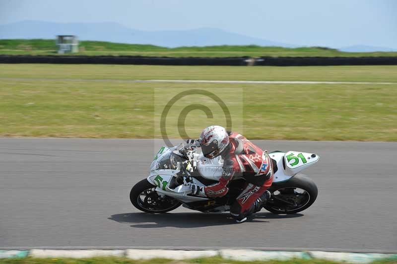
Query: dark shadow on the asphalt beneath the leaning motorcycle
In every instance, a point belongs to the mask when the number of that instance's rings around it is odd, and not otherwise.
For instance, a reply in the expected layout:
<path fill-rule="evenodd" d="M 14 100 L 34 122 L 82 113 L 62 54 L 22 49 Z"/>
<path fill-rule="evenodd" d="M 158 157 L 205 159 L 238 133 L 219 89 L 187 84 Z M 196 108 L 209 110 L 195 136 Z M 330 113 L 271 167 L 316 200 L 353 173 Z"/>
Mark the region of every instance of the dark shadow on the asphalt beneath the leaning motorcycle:
<path fill-rule="evenodd" d="M 303 214 L 272 214 L 269 212 L 259 212 L 254 214 L 247 222 L 250 223 L 266 223 L 266 219 L 283 219 L 301 217 Z M 178 227 L 178 228 L 192 228 L 205 227 L 217 225 L 230 225 L 236 222 L 229 216 L 228 213 L 120 213 L 110 216 L 108 219 L 118 223 L 133 223 L 131 227 L 136 228 L 159 228 L 159 227 Z"/>

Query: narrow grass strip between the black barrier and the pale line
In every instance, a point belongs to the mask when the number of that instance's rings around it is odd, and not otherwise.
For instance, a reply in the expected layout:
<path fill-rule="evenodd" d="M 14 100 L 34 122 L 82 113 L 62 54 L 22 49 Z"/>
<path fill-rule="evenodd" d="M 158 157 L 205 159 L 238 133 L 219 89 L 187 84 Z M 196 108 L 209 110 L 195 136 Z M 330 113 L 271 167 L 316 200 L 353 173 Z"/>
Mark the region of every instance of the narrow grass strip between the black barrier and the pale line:
<path fill-rule="evenodd" d="M 0 64 L 0 78 L 397 82 L 397 66 L 147 66 Z"/>

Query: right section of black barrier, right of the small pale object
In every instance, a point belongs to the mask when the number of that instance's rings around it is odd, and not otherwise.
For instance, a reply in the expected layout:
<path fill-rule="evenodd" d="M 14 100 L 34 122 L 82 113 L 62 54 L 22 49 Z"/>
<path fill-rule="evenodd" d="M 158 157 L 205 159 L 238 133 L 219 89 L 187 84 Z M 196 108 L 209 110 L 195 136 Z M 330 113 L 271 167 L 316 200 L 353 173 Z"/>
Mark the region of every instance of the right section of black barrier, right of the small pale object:
<path fill-rule="evenodd" d="M 256 66 L 397 65 L 397 57 L 261 57 Z"/>

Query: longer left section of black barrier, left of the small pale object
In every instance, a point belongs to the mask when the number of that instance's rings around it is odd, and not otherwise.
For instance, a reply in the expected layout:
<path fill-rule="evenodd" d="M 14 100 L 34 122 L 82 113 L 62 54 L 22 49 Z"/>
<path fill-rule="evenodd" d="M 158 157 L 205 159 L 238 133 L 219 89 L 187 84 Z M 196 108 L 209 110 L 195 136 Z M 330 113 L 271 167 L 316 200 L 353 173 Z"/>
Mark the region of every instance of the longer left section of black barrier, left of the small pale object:
<path fill-rule="evenodd" d="M 248 57 L 235 58 L 170 58 L 140 56 L 0 56 L 0 63 L 48 64 L 124 64 L 124 65 L 191 65 L 246 66 Z"/>

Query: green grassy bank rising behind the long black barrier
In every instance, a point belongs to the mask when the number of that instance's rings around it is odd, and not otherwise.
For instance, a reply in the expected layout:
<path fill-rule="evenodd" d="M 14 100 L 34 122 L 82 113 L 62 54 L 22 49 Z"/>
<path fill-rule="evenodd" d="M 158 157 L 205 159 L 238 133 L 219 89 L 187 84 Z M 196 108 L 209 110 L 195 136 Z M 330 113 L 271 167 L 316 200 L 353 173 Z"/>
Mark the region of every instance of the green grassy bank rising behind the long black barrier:
<path fill-rule="evenodd" d="M 74 55 L 167 56 L 167 57 L 362 57 L 397 56 L 397 52 L 347 53 L 322 47 L 208 46 L 165 48 L 154 45 L 123 44 L 104 41 L 80 41 Z M 0 55 L 56 55 L 55 40 L 0 40 Z"/>

